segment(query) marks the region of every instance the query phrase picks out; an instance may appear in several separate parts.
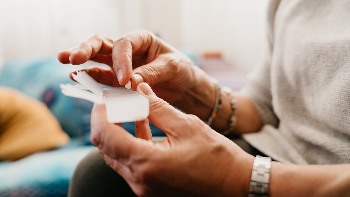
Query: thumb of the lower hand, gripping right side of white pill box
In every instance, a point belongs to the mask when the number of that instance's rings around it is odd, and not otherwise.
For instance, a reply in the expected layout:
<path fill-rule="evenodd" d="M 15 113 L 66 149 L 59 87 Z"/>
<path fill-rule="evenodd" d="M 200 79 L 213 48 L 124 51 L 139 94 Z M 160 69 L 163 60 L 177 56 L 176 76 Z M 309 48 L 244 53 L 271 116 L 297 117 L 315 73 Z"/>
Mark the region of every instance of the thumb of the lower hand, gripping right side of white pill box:
<path fill-rule="evenodd" d="M 174 108 L 166 101 L 157 97 L 147 83 L 140 83 L 137 91 L 149 99 L 149 116 L 148 119 L 163 130 L 168 137 L 178 138 L 186 134 L 186 131 L 193 125 L 191 119 L 194 116 L 184 114 Z M 199 118 L 198 118 L 199 120 Z"/>

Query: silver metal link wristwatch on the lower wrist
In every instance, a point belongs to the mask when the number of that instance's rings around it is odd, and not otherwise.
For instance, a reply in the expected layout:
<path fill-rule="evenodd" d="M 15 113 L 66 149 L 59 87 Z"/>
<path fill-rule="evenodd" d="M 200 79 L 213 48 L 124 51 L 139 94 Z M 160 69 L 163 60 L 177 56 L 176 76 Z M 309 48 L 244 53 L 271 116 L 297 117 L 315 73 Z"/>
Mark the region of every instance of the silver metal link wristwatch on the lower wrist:
<path fill-rule="evenodd" d="M 256 156 L 250 178 L 248 197 L 267 197 L 270 180 L 271 158 Z"/>

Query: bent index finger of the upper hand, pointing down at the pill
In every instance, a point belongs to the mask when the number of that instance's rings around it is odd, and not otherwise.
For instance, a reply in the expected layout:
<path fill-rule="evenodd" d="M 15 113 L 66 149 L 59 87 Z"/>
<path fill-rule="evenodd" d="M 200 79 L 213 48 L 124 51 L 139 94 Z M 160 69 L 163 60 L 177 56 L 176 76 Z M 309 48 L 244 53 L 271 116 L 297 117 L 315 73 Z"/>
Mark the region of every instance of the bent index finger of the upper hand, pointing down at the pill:
<path fill-rule="evenodd" d="M 144 57 L 146 62 L 150 62 L 154 59 L 155 49 L 151 46 L 156 45 L 156 40 L 158 39 L 151 32 L 139 31 L 126 34 L 114 41 L 113 69 L 117 73 L 121 85 L 125 85 L 131 78 L 133 54 L 147 54 L 147 56 Z"/>

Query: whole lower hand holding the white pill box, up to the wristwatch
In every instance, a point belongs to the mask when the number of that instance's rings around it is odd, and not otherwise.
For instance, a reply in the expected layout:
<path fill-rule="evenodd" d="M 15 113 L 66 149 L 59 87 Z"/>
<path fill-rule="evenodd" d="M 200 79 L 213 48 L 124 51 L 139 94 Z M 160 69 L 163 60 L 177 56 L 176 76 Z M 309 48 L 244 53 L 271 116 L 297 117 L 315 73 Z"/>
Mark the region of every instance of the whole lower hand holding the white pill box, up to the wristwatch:
<path fill-rule="evenodd" d="M 95 104 L 91 141 L 138 196 L 247 196 L 253 156 L 158 98 L 147 83 L 137 91 L 148 97 L 148 118 L 167 138 L 153 143 L 148 120 L 136 123 L 135 138 L 108 123 L 105 107 Z"/>

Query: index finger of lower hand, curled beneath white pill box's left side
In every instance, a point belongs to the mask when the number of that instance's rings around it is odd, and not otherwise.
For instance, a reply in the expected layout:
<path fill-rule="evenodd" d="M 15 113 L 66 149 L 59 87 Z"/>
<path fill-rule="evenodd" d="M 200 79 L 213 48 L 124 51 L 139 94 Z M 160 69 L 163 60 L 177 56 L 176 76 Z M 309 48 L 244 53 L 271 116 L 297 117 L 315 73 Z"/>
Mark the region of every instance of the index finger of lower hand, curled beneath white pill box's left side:
<path fill-rule="evenodd" d="M 91 111 L 91 142 L 119 161 L 152 149 L 149 141 L 135 138 L 121 126 L 107 122 L 105 105 L 99 104 L 94 104 Z"/>

